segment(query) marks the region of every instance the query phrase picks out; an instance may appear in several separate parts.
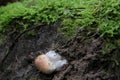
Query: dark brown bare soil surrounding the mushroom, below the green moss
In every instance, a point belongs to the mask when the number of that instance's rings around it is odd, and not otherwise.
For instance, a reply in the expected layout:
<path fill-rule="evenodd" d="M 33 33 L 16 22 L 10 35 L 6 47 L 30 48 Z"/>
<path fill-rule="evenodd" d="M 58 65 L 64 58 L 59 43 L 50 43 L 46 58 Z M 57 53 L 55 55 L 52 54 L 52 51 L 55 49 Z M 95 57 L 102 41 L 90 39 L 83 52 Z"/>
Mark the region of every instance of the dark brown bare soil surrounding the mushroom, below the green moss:
<path fill-rule="evenodd" d="M 109 63 L 101 61 L 103 39 L 86 29 L 67 40 L 59 26 L 57 23 L 38 27 L 34 36 L 23 34 L 14 45 L 10 46 L 12 39 L 1 45 L 0 80 L 120 80 L 120 70 L 115 71 Z M 61 54 L 69 64 L 59 72 L 46 75 L 33 61 L 38 51 L 49 50 Z M 5 58 L 6 53 L 9 55 Z"/>

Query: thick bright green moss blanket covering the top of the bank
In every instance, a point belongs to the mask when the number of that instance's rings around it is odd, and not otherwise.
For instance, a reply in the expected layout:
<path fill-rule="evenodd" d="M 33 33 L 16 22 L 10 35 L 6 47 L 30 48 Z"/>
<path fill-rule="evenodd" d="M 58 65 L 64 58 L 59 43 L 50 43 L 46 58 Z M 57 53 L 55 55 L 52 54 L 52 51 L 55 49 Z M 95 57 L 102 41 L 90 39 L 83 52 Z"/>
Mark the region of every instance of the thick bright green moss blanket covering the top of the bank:
<path fill-rule="evenodd" d="M 62 30 L 68 36 L 73 36 L 72 30 L 78 27 L 89 26 L 99 29 L 101 36 L 113 37 L 120 34 L 119 5 L 119 0 L 24 0 L 0 7 L 0 32 L 9 31 L 10 24 L 26 29 L 33 24 L 61 19 Z M 93 23 L 98 26 L 93 27 Z"/>

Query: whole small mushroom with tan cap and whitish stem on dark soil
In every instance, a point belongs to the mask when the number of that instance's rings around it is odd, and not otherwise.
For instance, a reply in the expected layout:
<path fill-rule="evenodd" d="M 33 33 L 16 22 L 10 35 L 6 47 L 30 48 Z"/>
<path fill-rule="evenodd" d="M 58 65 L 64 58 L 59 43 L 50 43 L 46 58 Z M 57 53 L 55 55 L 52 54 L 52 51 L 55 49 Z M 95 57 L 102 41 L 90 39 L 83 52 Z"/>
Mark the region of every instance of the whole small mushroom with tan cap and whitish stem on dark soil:
<path fill-rule="evenodd" d="M 46 54 L 41 54 L 35 59 L 36 67 L 43 73 L 49 74 L 53 71 L 59 71 L 67 64 L 66 59 L 56 53 L 55 51 L 49 51 Z"/>

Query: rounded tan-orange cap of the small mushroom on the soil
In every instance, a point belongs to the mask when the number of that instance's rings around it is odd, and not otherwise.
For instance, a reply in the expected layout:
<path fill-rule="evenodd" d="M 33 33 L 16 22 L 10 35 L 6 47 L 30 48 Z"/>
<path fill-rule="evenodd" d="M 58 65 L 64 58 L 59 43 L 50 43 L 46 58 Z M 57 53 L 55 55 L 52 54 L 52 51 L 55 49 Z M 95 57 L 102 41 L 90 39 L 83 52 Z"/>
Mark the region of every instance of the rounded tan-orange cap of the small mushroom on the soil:
<path fill-rule="evenodd" d="M 43 73 L 49 74 L 55 70 L 53 63 L 44 54 L 35 59 L 35 66 Z"/>

